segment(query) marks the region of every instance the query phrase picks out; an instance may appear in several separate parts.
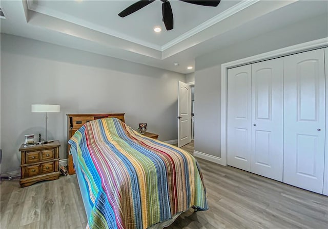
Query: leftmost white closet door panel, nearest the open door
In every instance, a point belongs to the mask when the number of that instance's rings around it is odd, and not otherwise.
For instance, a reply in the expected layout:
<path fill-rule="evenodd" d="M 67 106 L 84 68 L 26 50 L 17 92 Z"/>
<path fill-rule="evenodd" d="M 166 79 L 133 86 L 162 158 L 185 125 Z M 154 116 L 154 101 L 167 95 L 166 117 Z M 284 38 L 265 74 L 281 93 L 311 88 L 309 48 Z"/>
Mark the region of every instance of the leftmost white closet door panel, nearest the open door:
<path fill-rule="evenodd" d="M 228 70 L 228 165 L 251 171 L 251 65 Z"/>

